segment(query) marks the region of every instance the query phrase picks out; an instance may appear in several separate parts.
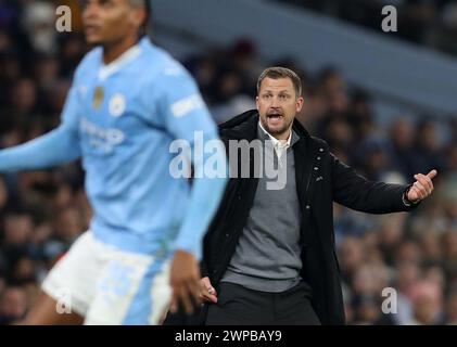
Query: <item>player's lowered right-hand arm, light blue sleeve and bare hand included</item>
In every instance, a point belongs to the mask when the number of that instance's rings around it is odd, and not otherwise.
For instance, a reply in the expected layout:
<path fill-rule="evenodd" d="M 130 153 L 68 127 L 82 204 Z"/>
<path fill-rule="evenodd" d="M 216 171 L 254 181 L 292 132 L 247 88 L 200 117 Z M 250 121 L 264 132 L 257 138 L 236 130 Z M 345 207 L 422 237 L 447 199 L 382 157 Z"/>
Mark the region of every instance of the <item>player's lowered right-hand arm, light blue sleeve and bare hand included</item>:
<path fill-rule="evenodd" d="M 176 139 L 186 140 L 192 147 L 192 153 L 203 151 L 195 147 L 195 132 L 203 136 L 204 143 L 218 140 L 217 127 L 204 104 L 193 79 L 182 75 L 172 75 L 165 78 L 166 91 L 162 102 L 165 124 Z M 213 143 L 216 143 L 213 141 Z M 220 143 L 219 143 L 220 144 Z M 200 152 L 199 152 L 200 153 Z M 199 157 L 199 155 L 193 155 Z M 223 165 L 220 177 L 210 178 L 204 172 L 205 163 L 211 157 L 212 163 Z M 174 244 L 175 259 L 172 267 L 172 286 L 174 300 L 172 310 L 176 310 L 177 301 L 181 300 L 188 312 L 192 311 L 190 296 L 200 299 L 200 271 L 198 260 L 201 258 L 203 235 L 216 213 L 227 182 L 227 158 L 224 146 L 219 151 L 203 153 L 201 159 L 193 160 L 194 179 L 190 193 L 189 207 Z M 224 169 L 225 167 L 225 169 Z M 191 294 L 191 295 L 190 295 Z"/>

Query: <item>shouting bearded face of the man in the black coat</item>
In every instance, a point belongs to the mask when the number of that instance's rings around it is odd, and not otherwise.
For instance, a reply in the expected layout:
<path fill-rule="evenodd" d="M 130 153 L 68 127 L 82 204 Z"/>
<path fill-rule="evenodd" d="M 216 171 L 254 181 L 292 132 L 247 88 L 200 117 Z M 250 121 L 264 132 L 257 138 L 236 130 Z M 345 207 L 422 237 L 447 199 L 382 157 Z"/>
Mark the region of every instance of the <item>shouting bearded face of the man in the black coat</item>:
<path fill-rule="evenodd" d="M 303 106 L 303 98 L 296 95 L 292 80 L 266 77 L 255 101 L 265 130 L 278 139 L 287 139 L 293 118 Z"/>

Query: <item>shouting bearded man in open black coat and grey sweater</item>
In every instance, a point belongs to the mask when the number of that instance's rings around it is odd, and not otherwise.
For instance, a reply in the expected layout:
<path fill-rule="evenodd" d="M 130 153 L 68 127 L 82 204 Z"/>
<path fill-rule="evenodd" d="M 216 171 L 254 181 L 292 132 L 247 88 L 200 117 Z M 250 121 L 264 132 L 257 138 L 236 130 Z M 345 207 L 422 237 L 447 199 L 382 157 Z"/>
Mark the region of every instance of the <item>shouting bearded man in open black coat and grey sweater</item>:
<path fill-rule="evenodd" d="M 294 120 L 301 88 L 292 70 L 268 68 L 258 78 L 257 110 L 219 127 L 231 172 L 203 244 L 206 324 L 344 324 L 333 202 L 390 214 L 415 208 L 433 191 L 435 170 L 399 185 L 367 181 L 341 163 Z M 263 160 L 255 145 L 244 156 L 232 151 L 256 140 L 265 144 Z M 282 168 L 281 187 L 268 188 L 271 175 L 258 175 L 268 174 L 268 160 Z"/>

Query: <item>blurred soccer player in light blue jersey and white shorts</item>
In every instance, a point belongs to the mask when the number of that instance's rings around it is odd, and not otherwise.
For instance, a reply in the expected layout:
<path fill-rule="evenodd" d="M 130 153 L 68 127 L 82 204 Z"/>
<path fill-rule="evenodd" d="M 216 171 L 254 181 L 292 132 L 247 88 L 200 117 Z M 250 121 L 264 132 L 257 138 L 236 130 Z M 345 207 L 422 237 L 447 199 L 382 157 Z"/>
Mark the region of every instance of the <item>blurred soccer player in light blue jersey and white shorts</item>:
<path fill-rule="evenodd" d="M 81 157 L 94 210 L 25 323 L 156 324 L 169 304 L 191 312 L 198 301 L 201 239 L 225 187 L 225 179 L 189 188 L 173 178 L 169 145 L 182 139 L 193 146 L 194 131 L 217 139 L 217 129 L 190 75 L 141 37 L 145 1 L 88 0 L 82 11 L 97 48 L 75 73 L 62 124 L 0 151 L 0 171 Z"/>

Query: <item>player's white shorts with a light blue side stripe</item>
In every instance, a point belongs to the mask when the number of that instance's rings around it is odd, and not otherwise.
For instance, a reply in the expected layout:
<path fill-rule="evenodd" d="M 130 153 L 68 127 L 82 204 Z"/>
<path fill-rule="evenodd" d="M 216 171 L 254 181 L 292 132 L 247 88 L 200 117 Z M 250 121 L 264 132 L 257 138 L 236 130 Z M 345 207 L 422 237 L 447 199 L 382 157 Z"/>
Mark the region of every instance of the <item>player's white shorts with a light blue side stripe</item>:
<path fill-rule="evenodd" d="M 51 269 L 43 291 L 85 324 L 158 324 L 169 305 L 169 258 L 119 250 L 87 231 Z"/>

